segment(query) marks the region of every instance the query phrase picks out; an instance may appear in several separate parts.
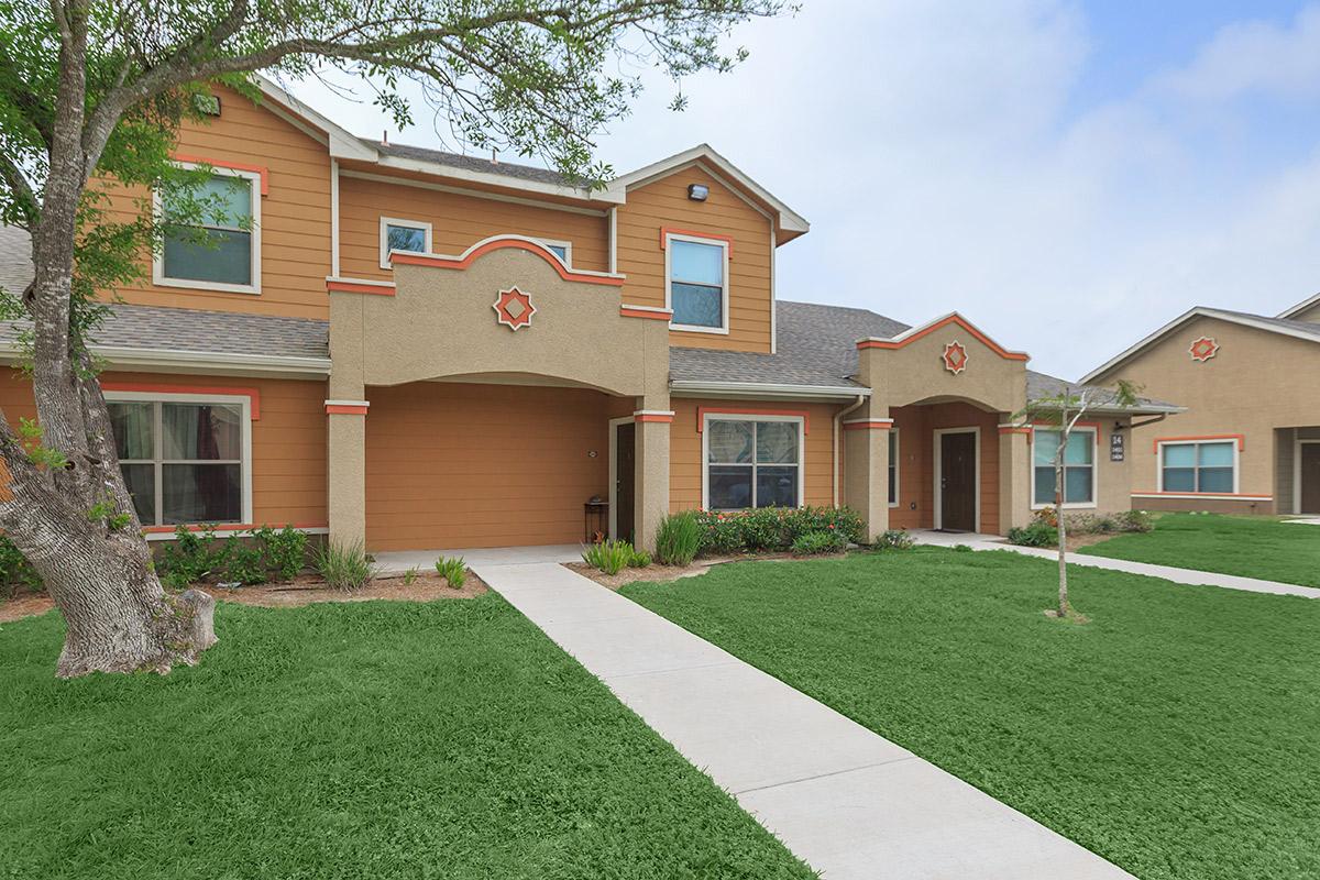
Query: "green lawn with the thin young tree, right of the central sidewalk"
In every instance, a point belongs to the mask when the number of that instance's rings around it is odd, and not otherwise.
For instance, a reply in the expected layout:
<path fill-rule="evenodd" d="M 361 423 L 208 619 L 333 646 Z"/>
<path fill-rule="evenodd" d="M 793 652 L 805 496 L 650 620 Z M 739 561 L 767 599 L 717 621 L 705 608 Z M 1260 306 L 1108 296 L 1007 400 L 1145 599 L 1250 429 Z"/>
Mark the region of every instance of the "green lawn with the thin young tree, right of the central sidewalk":
<path fill-rule="evenodd" d="M 1287 526 L 1304 529 L 1305 526 Z M 1146 880 L 1320 876 L 1320 600 L 920 548 L 623 592 Z"/>

